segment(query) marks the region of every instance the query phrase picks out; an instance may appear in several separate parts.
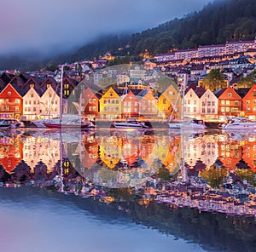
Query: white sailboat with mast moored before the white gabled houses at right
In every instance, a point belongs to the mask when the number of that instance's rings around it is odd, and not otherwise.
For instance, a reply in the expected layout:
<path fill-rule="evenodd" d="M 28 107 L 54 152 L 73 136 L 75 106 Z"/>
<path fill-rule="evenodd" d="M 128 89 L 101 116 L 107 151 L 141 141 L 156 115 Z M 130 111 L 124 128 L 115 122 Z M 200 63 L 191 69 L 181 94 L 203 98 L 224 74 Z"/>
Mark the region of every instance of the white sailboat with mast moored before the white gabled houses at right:
<path fill-rule="evenodd" d="M 185 96 L 185 85 L 182 86 L 180 89 L 182 91 L 182 106 L 181 106 L 181 120 L 172 120 L 172 115 L 169 117 L 168 125 L 170 129 L 189 129 L 189 130 L 203 130 L 206 129 L 207 126 L 205 125 L 203 120 L 198 120 L 195 118 L 188 118 L 184 119 L 184 96 Z M 177 95 L 178 99 L 178 95 Z M 177 103 L 177 101 L 176 101 Z"/>

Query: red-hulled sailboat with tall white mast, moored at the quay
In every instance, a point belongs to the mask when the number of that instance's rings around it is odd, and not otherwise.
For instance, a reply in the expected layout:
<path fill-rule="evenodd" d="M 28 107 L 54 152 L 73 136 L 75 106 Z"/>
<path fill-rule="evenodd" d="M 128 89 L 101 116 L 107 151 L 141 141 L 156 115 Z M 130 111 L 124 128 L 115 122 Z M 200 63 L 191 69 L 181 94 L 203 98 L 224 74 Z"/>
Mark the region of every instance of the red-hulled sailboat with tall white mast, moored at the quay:
<path fill-rule="evenodd" d="M 94 124 L 85 118 L 81 117 L 81 110 L 79 114 L 65 114 L 62 112 L 63 104 L 63 67 L 61 66 L 61 99 L 60 99 L 60 117 L 44 122 L 44 126 L 50 129 L 90 129 L 94 128 Z"/>

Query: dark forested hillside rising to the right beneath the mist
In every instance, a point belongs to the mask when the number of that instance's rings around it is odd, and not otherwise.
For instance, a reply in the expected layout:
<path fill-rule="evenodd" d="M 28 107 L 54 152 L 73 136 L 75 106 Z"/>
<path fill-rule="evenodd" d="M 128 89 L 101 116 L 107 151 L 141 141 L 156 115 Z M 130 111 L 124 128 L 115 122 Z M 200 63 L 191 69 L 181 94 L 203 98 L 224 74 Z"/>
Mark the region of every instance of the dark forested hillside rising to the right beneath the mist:
<path fill-rule="evenodd" d="M 192 49 L 199 45 L 226 41 L 253 40 L 255 36 L 256 0 L 215 0 L 199 12 L 186 14 L 181 19 L 168 21 L 131 36 L 100 37 L 95 42 L 74 50 L 72 54 L 51 59 L 51 62 L 28 63 L 22 62 L 25 59 L 15 58 L 14 62 L 13 59 L 0 59 L 0 70 L 6 69 L 6 65 L 18 69 L 21 69 L 19 66 L 26 66 L 26 70 L 33 70 L 49 63 L 93 59 L 106 52 L 120 56 L 129 55 L 134 59 L 146 49 L 149 54 L 154 55 L 167 53 L 172 49 Z M 21 70 L 25 70 L 24 67 Z"/>

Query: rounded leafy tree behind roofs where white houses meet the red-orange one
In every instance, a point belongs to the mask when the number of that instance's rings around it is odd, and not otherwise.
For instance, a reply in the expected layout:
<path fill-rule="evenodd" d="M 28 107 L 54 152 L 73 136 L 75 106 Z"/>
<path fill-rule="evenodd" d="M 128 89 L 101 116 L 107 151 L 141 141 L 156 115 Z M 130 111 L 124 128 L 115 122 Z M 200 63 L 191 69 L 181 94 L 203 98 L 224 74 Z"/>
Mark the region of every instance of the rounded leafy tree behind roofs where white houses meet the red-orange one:
<path fill-rule="evenodd" d="M 203 86 L 211 91 L 216 91 L 217 89 L 224 89 L 227 87 L 227 83 L 224 80 L 223 73 L 219 69 L 212 69 L 207 77 L 202 81 Z"/>

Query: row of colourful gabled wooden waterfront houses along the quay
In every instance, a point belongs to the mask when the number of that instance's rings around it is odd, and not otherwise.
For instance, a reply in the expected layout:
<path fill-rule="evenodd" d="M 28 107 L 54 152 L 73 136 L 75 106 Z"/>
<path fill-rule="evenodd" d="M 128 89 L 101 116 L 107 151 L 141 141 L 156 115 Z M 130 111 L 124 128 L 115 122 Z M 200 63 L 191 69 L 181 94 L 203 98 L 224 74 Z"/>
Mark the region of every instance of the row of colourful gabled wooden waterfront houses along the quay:
<path fill-rule="evenodd" d="M 6 76 L 5 76 L 6 77 Z M 228 87 L 212 93 L 210 89 L 191 85 L 184 97 L 177 86 L 170 85 L 163 93 L 144 89 L 95 90 L 84 83 L 74 83 L 65 76 L 63 102 L 60 107 L 60 85 L 48 77 L 38 83 L 34 77 L 15 76 L 0 92 L 0 117 L 37 119 L 57 116 L 70 111 L 68 97 L 79 88 L 79 110 L 90 120 L 114 120 L 125 117 L 148 117 L 166 120 L 168 117 L 195 117 L 206 121 L 224 120 L 225 116 L 246 116 L 256 120 L 256 85 L 251 89 Z M 4 76 L 0 78 L 4 80 Z M 143 86 L 142 86 L 143 87 Z M 74 112 L 74 111 L 73 111 Z M 76 111 L 78 112 L 78 111 Z"/>

